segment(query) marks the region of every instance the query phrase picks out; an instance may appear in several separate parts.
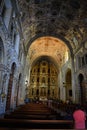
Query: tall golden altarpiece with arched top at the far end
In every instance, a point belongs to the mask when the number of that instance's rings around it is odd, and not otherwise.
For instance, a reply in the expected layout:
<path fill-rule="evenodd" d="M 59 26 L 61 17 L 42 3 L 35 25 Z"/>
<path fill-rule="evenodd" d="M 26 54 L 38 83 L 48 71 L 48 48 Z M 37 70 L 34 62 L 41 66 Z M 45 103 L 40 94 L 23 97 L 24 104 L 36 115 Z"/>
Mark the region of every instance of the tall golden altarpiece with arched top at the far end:
<path fill-rule="evenodd" d="M 53 63 L 42 60 L 32 67 L 29 98 L 42 101 L 58 98 L 58 74 Z"/>

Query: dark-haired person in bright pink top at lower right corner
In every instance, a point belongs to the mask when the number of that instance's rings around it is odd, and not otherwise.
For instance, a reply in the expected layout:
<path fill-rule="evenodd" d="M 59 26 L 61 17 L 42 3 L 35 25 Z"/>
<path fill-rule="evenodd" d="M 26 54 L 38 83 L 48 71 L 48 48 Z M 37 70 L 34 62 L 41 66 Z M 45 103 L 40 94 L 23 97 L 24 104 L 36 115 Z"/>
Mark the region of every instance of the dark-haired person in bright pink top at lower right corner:
<path fill-rule="evenodd" d="M 86 113 L 80 105 L 76 106 L 73 113 L 75 129 L 85 129 Z"/>

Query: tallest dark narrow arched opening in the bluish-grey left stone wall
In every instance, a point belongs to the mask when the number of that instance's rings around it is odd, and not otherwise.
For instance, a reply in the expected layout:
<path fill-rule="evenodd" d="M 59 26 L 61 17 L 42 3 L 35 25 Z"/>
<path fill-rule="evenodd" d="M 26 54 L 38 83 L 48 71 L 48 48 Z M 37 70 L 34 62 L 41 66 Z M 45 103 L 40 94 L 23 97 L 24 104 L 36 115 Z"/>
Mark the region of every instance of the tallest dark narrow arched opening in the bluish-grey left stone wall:
<path fill-rule="evenodd" d="M 11 105 L 12 85 L 13 85 L 13 78 L 14 78 L 15 69 L 16 69 L 16 64 L 14 62 L 11 66 L 11 73 L 10 73 L 9 83 L 8 83 L 6 111 L 10 109 L 10 105 Z"/>

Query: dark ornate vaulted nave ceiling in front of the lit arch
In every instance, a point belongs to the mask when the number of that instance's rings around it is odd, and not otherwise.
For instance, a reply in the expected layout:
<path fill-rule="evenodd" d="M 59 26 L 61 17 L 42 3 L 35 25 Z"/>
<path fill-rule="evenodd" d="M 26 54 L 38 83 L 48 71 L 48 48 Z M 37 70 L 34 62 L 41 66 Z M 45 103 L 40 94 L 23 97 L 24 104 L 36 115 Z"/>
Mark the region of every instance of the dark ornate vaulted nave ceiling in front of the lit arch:
<path fill-rule="evenodd" d="M 42 36 L 61 39 L 73 54 L 87 37 L 86 0 L 18 0 L 25 48 Z"/>

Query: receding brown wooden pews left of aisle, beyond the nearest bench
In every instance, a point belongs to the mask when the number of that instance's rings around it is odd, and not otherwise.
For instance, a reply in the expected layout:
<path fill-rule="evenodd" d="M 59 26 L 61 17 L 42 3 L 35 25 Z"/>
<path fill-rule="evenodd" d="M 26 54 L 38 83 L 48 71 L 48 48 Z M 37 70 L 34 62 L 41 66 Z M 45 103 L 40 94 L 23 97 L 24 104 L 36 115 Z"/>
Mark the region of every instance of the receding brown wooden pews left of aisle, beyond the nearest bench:
<path fill-rule="evenodd" d="M 23 105 L 10 114 L 5 114 L 6 119 L 55 119 L 56 115 L 44 104 L 30 103 Z"/>

